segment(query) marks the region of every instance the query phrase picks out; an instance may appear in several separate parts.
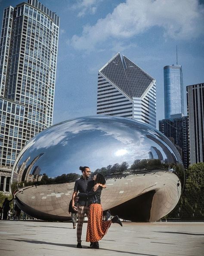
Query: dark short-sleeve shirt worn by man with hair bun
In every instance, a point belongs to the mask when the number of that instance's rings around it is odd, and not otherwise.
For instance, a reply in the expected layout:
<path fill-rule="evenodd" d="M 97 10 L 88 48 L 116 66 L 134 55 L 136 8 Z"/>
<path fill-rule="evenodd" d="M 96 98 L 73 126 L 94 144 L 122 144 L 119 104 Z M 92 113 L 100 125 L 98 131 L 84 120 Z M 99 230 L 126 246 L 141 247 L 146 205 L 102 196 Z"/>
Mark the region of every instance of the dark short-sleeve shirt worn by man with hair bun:
<path fill-rule="evenodd" d="M 77 179 L 74 185 L 74 191 L 81 192 L 81 193 L 87 193 L 93 188 L 94 182 L 91 180 L 90 177 L 87 179 L 83 179 L 81 177 L 80 179 Z M 87 198 L 79 198 L 78 200 L 79 205 L 88 205 Z"/>

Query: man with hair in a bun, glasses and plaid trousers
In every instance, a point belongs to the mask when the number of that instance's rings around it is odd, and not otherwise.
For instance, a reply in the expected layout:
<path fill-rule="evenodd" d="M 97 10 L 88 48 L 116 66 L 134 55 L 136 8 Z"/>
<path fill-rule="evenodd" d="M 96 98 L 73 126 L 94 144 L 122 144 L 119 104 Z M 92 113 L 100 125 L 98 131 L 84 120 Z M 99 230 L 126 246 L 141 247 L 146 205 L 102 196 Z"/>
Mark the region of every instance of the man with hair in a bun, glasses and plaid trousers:
<path fill-rule="evenodd" d="M 72 195 L 72 208 L 74 211 L 78 211 L 78 223 L 77 223 L 77 248 L 82 248 L 81 246 L 81 233 L 82 233 L 82 227 L 83 227 L 83 219 L 84 215 L 86 214 L 87 217 L 89 215 L 89 205 L 88 205 L 88 198 L 79 198 L 77 207 L 74 205 L 77 192 L 81 193 L 87 193 L 93 188 L 93 182 L 90 178 L 90 169 L 88 166 L 80 166 L 79 170 L 81 170 L 83 176 L 80 179 L 77 179 L 74 185 L 74 192 Z M 105 185 L 102 184 L 96 184 L 94 186 L 94 191 L 97 190 L 98 186 L 102 186 L 104 189 L 106 188 Z"/>

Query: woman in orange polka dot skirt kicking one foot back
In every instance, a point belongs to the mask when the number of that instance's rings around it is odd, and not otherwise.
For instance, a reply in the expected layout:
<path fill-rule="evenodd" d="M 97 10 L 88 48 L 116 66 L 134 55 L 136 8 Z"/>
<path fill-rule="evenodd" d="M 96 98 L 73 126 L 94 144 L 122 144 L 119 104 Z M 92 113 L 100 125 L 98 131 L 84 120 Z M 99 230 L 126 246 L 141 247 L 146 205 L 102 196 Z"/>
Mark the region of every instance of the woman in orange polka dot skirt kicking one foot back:
<path fill-rule="evenodd" d="M 102 174 L 98 173 L 97 175 L 93 176 L 94 184 L 100 183 L 105 184 L 105 178 Z M 118 216 L 114 216 L 111 221 L 103 221 L 103 210 L 101 206 L 101 192 L 102 187 L 99 186 L 96 192 L 93 189 L 88 193 L 78 193 L 79 197 L 87 197 L 89 198 L 89 217 L 88 217 L 88 224 L 87 224 L 87 242 L 90 242 L 91 249 L 99 249 L 99 240 L 106 234 L 108 228 L 110 227 L 111 223 L 118 223 L 121 226 L 122 223 Z"/>

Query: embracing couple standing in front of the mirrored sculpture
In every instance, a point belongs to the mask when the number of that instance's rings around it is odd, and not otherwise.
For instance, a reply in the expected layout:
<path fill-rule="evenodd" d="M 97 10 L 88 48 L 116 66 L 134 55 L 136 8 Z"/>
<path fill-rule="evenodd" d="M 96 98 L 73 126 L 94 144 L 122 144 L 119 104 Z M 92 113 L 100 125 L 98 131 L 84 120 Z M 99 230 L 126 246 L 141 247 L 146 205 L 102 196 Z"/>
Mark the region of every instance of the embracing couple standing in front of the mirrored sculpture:
<path fill-rule="evenodd" d="M 90 242 L 88 248 L 99 249 L 98 241 L 106 234 L 111 223 L 118 223 L 121 226 L 122 223 L 117 215 L 111 221 L 103 221 L 101 192 L 102 189 L 106 188 L 104 176 L 98 173 L 91 179 L 91 171 L 88 166 L 80 166 L 79 169 L 83 176 L 76 180 L 72 195 L 72 208 L 74 211 L 78 211 L 77 248 L 82 248 L 81 233 L 84 215 L 86 214 L 88 217 L 86 241 Z M 79 199 L 76 207 L 74 202 L 77 196 Z"/>

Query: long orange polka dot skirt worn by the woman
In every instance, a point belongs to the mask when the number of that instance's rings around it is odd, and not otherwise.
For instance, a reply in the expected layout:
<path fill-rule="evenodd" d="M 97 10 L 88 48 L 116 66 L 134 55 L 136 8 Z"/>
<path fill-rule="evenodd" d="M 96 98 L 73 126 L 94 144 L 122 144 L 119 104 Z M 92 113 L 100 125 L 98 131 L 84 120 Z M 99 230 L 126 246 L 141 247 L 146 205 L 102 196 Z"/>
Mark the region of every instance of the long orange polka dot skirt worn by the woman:
<path fill-rule="evenodd" d="M 107 233 L 111 221 L 103 221 L 103 210 L 100 204 L 91 204 L 87 224 L 87 242 L 97 242 Z"/>

